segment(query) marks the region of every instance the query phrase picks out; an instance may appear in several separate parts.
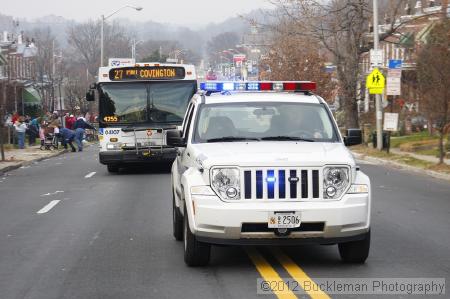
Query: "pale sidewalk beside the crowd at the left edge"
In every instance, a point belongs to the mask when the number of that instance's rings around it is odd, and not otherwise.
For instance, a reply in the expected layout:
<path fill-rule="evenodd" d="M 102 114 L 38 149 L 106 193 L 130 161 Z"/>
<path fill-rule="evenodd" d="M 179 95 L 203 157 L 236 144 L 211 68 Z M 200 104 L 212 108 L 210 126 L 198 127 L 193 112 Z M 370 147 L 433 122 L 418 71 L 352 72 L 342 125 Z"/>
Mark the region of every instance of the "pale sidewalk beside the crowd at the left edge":
<path fill-rule="evenodd" d="M 26 147 L 25 149 L 5 150 L 6 161 L 0 161 L 0 174 L 29 165 L 33 162 L 58 156 L 66 152 L 64 148 L 53 151 L 41 151 L 39 147 L 39 145 L 35 145 Z"/>

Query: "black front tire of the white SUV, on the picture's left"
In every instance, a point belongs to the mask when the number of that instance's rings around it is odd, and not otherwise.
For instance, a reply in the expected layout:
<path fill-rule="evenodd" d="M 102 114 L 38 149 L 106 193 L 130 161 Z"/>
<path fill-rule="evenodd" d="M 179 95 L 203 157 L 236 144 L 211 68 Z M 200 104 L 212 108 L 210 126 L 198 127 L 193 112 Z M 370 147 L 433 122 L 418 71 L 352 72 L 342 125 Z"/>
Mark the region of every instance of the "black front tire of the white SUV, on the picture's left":
<path fill-rule="evenodd" d="M 189 227 L 186 207 L 184 208 L 184 262 L 189 267 L 206 266 L 211 255 L 211 245 L 197 241 Z"/>

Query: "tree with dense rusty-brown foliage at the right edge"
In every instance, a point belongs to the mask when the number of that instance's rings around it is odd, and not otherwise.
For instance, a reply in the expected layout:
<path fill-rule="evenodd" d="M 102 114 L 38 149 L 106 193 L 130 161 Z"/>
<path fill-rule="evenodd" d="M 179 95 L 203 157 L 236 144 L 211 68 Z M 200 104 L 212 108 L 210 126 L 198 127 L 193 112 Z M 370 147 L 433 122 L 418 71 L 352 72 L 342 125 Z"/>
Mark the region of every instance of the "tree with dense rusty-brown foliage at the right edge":
<path fill-rule="evenodd" d="M 444 162 L 444 136 L 450 125 L 450 20 L 430 32 L 417 60 L 421 107 L 439 132 L 439 162 Z"/>

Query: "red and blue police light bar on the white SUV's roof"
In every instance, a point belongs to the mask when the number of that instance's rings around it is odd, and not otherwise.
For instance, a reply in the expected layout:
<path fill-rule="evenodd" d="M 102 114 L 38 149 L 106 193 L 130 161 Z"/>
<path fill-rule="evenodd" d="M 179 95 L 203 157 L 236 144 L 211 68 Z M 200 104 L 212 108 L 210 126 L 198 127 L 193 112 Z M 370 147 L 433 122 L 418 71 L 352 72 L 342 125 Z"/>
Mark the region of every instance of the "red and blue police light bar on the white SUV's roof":
<path fill-rule="evenodd" d="M 207 92 L 223 91 L 313 91 L 316 82 L 312 81 L 253 81 L 253 82 L 219 82 L 200 83 L 200 89 Z"/>

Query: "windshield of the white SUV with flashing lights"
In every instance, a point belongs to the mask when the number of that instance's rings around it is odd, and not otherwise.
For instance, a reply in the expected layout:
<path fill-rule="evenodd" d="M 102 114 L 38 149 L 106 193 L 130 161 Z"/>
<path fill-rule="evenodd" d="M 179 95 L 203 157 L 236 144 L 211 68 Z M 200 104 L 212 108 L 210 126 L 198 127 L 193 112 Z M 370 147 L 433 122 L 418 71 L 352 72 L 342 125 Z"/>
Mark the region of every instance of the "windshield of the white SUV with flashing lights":
<path fill-rule="evenodd" d="M 331 116 L 322 104 L 252 102 L 202 105 L 195 143 L 233 141 L 336 142 Z"/>

